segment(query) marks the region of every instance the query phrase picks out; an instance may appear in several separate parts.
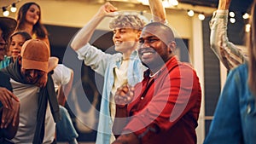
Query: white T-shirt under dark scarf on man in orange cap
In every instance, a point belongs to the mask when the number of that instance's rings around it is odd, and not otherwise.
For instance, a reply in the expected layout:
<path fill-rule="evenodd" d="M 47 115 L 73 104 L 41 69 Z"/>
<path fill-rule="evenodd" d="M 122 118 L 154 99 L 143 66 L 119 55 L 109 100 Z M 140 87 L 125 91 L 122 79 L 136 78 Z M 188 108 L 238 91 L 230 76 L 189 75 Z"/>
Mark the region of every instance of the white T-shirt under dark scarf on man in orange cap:
<path fill-rule="evenodd" d="M 10 80 L 14 94 L 20 99 L 20 123 L 15 137 L 15 143 L 32 144 L 37 125 L 39 87 L 32 84 L 20 84 Z M 45 116 L 44 144 L 51 143 L 55 138 L 55 122 L 49 105 Z"/>

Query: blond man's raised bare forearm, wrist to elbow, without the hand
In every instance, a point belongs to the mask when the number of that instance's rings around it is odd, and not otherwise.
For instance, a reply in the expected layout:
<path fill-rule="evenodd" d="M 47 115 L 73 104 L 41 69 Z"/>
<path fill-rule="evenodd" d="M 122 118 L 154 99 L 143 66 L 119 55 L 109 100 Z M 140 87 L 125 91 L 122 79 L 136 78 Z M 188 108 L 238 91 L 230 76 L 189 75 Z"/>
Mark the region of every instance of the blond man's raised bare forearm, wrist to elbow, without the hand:
<path fill-rule="evenodd" d="M 71 48 L 78 50 L 90 41 L 90 37 L 96 30 L 96 26 L 102 21 L 104 16 L 96 14 L 73 38 Z"/>

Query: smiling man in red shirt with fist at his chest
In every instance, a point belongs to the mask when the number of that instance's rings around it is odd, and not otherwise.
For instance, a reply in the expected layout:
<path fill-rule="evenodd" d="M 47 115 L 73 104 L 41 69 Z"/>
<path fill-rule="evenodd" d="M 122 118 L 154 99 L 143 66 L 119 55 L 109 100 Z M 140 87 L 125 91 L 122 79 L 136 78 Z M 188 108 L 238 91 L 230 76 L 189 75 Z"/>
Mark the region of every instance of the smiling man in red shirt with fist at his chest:
<path fill-rule="evenodd" d="M 194 144 L 201 85 L 189 64 L 177 60 L 172 29 L 159 22 L 143 28 L 138 54 L 143 82 L 123 85 L 114 96 L 113 144 Z"/>

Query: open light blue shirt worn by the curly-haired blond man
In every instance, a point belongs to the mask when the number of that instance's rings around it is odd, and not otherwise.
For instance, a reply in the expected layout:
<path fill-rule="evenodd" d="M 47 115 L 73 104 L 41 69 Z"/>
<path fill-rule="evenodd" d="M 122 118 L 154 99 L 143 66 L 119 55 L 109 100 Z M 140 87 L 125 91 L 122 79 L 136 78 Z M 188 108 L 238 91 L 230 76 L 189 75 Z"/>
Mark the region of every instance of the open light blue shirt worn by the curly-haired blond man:
<path fill-rule="evenodd" d="M 90 66 L 95 72 L 104 77 L 96 144 L 107 144 L 110 141 L 113 126 L 109 112 L 110 94 L 114 82 L 113 69 L 121 65 L 122 55 L 120 53 L 114 55 L 106 54 L 89 43 L 76 52 L 79 55 L 79 60 L 84 60 L 86 66 Z M 128 66 L 128 84 L 134 85 L 140 82 L 143 79 L 145 70 L 146 68 L 142 65 L 137 55 L 137 50 L 135 50 L 131 54 Z"/>

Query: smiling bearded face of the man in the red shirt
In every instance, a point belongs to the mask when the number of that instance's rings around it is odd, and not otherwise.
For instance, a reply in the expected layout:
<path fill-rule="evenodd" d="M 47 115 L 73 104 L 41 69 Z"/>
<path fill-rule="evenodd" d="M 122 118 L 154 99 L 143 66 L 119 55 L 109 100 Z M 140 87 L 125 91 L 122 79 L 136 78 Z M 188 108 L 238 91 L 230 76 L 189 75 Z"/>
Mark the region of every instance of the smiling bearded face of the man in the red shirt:
<path fill-rule="evenodd" d="M 164 32 L 154 28 L 156 27 L 145 27 L 139 38 L 139 57 L 146 66 L 153 66 L 149 68 L 163 65 L 172 57 L 170 48 L 164 43 L 165 40 L 160 38 L 165 37 Z"/>

